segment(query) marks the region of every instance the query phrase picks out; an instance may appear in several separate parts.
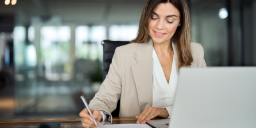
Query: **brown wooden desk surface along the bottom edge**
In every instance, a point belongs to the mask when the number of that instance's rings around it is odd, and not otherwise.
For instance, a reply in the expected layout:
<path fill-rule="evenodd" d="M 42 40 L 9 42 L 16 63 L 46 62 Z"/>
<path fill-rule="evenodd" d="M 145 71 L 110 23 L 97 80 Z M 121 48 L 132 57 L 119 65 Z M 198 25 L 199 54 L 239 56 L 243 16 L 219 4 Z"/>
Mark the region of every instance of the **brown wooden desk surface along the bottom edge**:
<path fill-rule="evenodd" d="M 134 117 L 114 117 L 112 124 L 136 124 Z M 37 128 L 42 122 L 60 122 L 61 128 L 82 128 L 81 118 L 41 118 L 41 119 L 15 119 L 0 120 L 0 128 Z"/>

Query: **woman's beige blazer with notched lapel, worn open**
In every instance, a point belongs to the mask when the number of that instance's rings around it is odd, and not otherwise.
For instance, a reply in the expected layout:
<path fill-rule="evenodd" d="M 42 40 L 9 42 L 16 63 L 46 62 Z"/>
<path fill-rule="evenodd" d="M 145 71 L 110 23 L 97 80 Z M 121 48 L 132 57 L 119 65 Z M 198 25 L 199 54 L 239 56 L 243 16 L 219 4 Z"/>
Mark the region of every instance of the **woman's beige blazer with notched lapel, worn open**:
<path fill-rule="evenodd" d="M 176 65 L 178 56 L 175 43 L 172 43 Z M 191 67 L 206 67 L 202 45 L 191 43 L 193 63 Z M 109 67 L 108 75 L 99 92 L 90 101 L 91 109 L 111 112 L 120 99 L 120 117 L 137 116 L 152 106 L 153 84 L 153 43 L 127 44 L 117 47 Z M 112 116 L 111 116 L 112 122 Z"/>

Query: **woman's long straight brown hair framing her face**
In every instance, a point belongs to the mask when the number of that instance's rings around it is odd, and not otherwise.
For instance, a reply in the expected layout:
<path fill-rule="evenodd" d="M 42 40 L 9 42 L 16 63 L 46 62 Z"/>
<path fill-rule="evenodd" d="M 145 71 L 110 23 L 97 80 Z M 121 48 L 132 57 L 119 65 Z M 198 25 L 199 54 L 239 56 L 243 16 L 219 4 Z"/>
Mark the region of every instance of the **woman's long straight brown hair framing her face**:
<path fill-rule="evenodd" d="M 150 39 L 148 33 L 148 19 L 152 15 L 154 8 L 159 3 L 172 3 L 180 12 L 180 22 L 182 23 L 172 37 L 172 42 L 177 44 L 177 54 L 179 58 L 179 68 L 189 67 L 193 61 L 191 52 L 191 28 L 187 0 L 147 0 L 140 18 L 137 37 L 131 42 L 144 43 Z"/>

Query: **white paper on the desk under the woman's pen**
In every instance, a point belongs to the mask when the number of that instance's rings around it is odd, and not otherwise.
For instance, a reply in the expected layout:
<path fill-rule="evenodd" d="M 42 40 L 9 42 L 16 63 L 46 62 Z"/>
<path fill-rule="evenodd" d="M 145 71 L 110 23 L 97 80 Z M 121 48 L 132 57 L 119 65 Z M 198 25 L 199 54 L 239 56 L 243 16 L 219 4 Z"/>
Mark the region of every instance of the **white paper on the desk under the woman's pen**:
<path fill-rule="evenodd" d="M 147 124 L 111 124 L 111 125 L 99 125 L 99 128 L 119 127 L 119 128 L 151 128 Z M 95 128 L 95 127 L 94 127 Z"/>

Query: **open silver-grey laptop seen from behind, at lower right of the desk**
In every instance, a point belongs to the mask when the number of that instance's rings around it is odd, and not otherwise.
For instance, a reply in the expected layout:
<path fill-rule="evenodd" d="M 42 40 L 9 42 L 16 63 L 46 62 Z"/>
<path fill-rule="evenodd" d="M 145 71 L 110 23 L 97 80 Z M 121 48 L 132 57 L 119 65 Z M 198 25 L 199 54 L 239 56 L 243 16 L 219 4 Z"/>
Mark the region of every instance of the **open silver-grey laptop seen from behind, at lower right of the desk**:
<path fill-rule="evenodd" d="M 148 120 L 148 124 L 256 127 L 256 67 L 180 68 L 179 78 L 170 120 Z"/>

